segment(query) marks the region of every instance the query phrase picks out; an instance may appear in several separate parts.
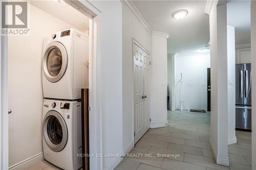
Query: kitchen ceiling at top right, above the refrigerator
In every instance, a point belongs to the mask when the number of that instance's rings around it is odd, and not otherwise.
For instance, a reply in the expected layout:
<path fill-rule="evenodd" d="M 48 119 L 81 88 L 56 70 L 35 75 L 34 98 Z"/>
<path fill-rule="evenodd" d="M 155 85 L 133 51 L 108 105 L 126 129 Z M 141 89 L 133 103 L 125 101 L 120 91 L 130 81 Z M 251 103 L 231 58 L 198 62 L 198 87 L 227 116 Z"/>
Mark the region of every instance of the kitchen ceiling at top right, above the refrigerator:
<path fill-rule="evenodd" d="M 236 44 L 250 43 L 250 1 L 228 1 L 227 4 L 227 23 L 235 27 Z"/>

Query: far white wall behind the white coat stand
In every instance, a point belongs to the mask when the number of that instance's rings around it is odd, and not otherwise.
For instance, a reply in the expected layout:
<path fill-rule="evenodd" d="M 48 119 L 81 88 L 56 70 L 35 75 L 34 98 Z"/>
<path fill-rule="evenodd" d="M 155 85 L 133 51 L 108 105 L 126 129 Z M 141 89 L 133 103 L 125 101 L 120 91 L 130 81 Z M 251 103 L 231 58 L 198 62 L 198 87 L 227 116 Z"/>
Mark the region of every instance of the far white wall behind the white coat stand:
<path fill-rule="evenodd" d="M 210 67 L 210 54 L 198 53 L 175 57 L 176 109 L 180 107 L 181 83 L 183 75 L 183 100 L 186 109 L 207 107 L 207 68 Z"/>

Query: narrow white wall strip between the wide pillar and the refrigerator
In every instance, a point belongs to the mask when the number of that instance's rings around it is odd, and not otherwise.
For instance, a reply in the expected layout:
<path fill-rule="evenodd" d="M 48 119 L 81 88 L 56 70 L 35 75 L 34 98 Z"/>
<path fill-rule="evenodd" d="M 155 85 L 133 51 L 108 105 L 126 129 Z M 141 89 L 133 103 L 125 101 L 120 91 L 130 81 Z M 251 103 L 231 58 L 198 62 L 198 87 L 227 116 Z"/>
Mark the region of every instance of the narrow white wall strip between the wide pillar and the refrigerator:
<path fill-rule="evenodd" d="M 228 4 L 227 4 L 228 6 Z M 228 18 L 228 17 L 227 17 Z M 234 27 L 227 26 L 228 144 L 236 143 L 236 45 Z"/>

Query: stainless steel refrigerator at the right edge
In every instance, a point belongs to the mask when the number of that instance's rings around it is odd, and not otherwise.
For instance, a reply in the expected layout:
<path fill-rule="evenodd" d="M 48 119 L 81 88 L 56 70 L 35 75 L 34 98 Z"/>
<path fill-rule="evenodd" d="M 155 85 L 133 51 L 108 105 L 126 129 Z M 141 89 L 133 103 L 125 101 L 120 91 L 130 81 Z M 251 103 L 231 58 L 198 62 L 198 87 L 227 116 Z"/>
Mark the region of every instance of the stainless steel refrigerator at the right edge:
<path fill-rule="evenodd" d="M 251 64 L 236 64 L 236 128 L 251 130 Z"/>

